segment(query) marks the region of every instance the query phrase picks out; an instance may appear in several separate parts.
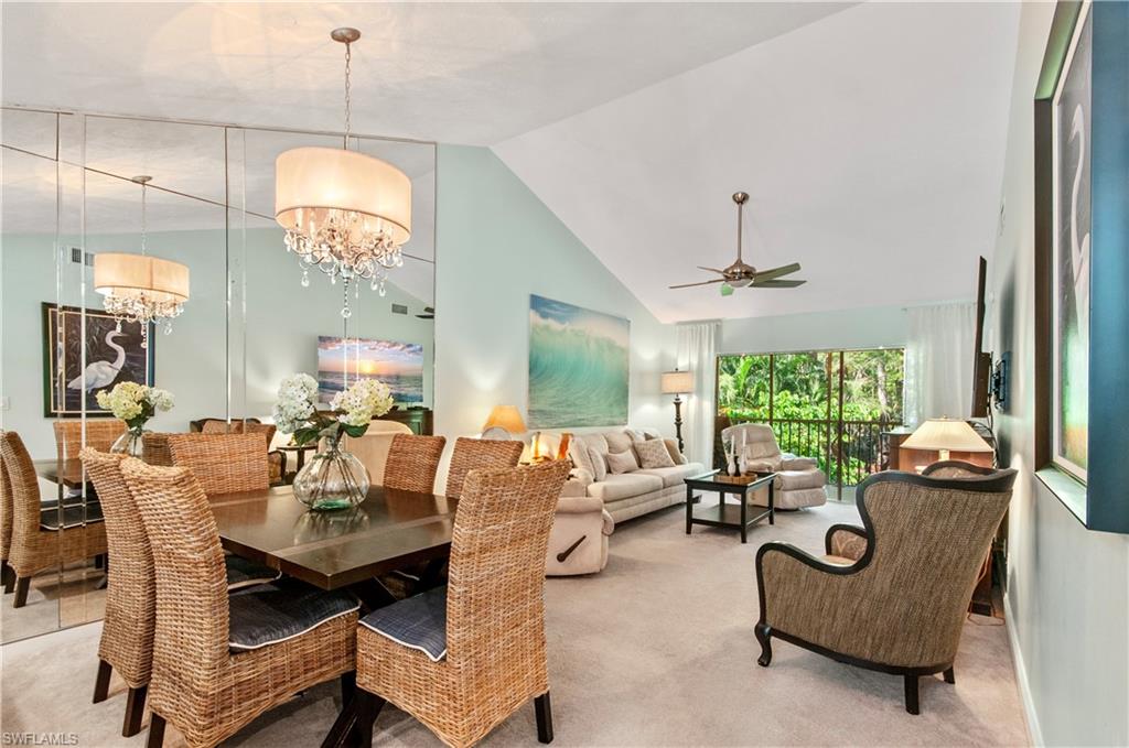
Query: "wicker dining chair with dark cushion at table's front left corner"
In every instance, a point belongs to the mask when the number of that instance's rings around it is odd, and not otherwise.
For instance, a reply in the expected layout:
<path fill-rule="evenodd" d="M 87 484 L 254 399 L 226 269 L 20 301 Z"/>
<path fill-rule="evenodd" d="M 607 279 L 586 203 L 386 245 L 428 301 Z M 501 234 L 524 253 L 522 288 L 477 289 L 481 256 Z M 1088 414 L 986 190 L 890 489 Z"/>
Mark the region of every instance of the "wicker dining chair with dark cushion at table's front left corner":
<path fill-rule="evenodd" d="M 126 458 L 122 474 L 157 581 L 149 748 L 163 745 L 166 721 L 189 746 L 210 747 L 325 680 L 352 692 L 356 600 L 281 582 L 228 596 L 216 519 L 192 472 Z"/>

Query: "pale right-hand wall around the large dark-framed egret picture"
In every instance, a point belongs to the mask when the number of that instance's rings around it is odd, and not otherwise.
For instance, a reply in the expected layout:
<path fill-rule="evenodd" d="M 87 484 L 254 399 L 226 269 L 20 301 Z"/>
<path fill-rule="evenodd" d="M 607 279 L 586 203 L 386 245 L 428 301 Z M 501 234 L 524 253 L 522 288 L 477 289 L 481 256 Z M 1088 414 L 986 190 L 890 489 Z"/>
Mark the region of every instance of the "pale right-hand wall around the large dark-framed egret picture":
<path fill-rule="evenodd" d="M 1053 11 L 1053 3 L 1023 6 L 1003 185 L 1005 221 L 989 263 L 989 341 L 997 355 L 1012 352 L 1012 405 L 997 417 L 997 435 L 1001 460 L 1019 470 L 1008 525 L 1008 626 L 1035 741 L 1124 746 L 1129 536 L 1086 530 L 1032 473 L 1032 102 Z"/>

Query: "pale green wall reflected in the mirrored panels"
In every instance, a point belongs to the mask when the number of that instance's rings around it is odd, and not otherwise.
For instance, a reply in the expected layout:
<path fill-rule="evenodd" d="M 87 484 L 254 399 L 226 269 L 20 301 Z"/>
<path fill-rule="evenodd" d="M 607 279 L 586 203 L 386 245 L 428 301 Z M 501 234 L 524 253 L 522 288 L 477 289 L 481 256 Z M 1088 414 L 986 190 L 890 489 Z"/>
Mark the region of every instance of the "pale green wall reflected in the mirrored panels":
<path fill-rule="evenodd" d="M 240 239 L 235 234 L 233 237 L 230 252 L 238 261 Z M 56 275 L 53 244 L 52 235 L 20 235 L 5 236 L 2 245 L 2 387 L 10 407 L 0 411 L 0 419 L 5 429 L 20 432 L 36 458 L 54 454 L 51 420 L 43 416 L 41 302 L 59 299 L 84 306 L 82 269 L 68 262 Z M 63 244 L 77 243 L 63 239 Z M 138 246 L 135 235 L 87 237 L 93 253 L 134 252 Z M 309 288 L 301 288 L 297 261 L 283 249 L 279 229 L 246 234 L 246 324 L 239 322 L 236 285 L 230 327 L 226 287 L 229 249 L 222 230 L 152 234 L 148 246 L 152 254 L 187 264 L 192 283 L 191 299 L 173 333 L 155 336 L 155 381 L 174 393 L 176 407 L 150 421 L 154 430 L 184 431 L 190 420 L 227 415 L 229 349 L 231 416 L 268 416 L 282 377 L 297 371 L 316 375 L 317 336 L 342 334 L 342 285 L 331 285 L 315 272 Z M 89 281 L 89 270 L 86 278 Z M 102 307 L 102 297 L 89 284 L 85 293 L 87 308 Z M 411 314 L 391 314 L 393 302 L 409 305 Z M 423 306 L 391 283 L 383 298 L 366 284 L 353 301 L 349 334 L 422 343 L 425 404 L 430 405 L 434 323 L 414 316 Z"/>

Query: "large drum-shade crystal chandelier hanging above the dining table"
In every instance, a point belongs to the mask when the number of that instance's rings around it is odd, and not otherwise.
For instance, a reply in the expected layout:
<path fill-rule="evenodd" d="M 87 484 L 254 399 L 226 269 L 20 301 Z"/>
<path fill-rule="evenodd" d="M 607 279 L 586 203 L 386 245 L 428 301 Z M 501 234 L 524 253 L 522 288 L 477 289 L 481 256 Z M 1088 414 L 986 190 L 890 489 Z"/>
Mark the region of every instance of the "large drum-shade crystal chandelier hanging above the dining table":
<path fill-rule="evenodd" d="M 351 44 L 356 28 L 330 34 L 345 45 L 345 134 L 341 149 L 295 148 L 274 161 L 274 218 L 286 229 L 286 248 L 298 255 L 301 284 L 309 285 L 316 267 L 331 283 L 344 281 L 348 318 L 349 284 L 355 296 L 362 280 L 384 296 L 388 271 L 403 264 L 401 246 L 412 234 L 412 183 L 403 171 L 378 158 L 349 150 L 351 122 Z"/>

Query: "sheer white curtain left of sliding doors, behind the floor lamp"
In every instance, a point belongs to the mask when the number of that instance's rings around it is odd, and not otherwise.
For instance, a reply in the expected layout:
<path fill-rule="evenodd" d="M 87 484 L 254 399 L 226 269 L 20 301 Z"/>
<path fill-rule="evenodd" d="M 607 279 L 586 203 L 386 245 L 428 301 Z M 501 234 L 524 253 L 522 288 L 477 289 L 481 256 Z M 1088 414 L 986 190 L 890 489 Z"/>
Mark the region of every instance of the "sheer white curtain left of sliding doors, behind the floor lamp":
<path fill-rule="evenodd" d="M 686 443 L 686 457 L 706 467 L 714 461 L 718 328 L 716 322 L 702 322 L 679 325 L 677 331 L 679 369 L 690 371 L 694 377 L 694 391 L 683 406 L 685 423 L 682 425 L 682 438 Z"/>

